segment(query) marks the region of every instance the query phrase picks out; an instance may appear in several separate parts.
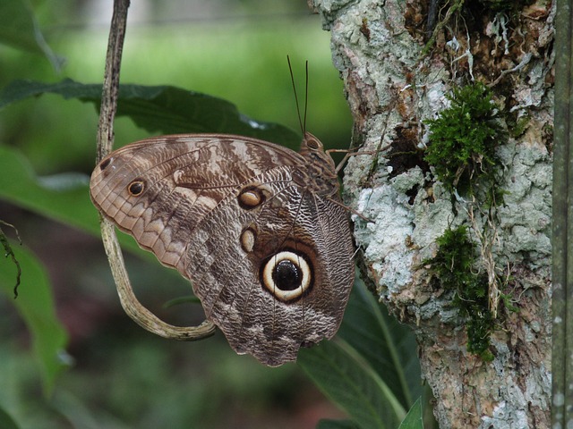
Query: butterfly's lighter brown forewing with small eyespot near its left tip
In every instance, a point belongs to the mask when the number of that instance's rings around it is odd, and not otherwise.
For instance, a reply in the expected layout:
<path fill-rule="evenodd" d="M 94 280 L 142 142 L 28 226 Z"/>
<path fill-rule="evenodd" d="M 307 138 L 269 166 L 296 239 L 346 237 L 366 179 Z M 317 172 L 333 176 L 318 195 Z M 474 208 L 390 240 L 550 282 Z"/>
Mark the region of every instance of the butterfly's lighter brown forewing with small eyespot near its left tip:
<path fill-rule="evenodd" d="M 184 252 L 192 236 L 201 235 L 196 230 L 201 219 L 244 182 L 272 169 L 278 158 L 283 165 L 295 164 L 296 157 L 285 151 L 261 140 L 218 135 L 142 140 L 98 164 L 90 196 L 141 248 L 186 276 Z M 142 190 L 134 194 L 138 182 Z"/>

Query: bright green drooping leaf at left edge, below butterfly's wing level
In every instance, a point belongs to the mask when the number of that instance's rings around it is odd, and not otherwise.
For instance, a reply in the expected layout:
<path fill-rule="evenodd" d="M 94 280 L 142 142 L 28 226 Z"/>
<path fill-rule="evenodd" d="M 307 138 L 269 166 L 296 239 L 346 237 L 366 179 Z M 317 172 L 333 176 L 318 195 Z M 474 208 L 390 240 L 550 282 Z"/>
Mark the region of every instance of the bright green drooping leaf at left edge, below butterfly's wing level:
<path fill-rule="evenodd" d="M 13 299 L 16 268 L 4 260 L 0 263 L 0 290 L 10 297 L 30 331 L 32 349 L 38 359 L 44 391 L 48 394 L 57 376 L 67 367 L 67 333 L 56 316 L 54 298 L 44 267 L 19 244 L 12 243 L 12 248 L 21 265 L 18 299 Z"/>

